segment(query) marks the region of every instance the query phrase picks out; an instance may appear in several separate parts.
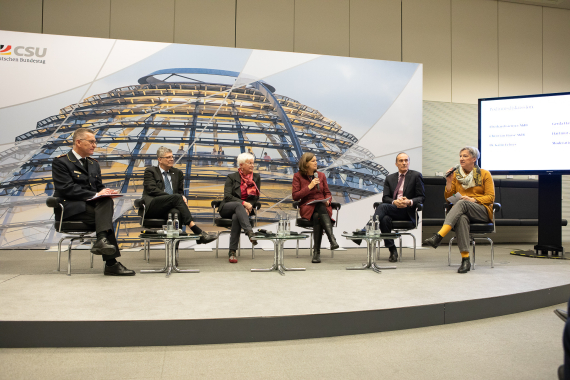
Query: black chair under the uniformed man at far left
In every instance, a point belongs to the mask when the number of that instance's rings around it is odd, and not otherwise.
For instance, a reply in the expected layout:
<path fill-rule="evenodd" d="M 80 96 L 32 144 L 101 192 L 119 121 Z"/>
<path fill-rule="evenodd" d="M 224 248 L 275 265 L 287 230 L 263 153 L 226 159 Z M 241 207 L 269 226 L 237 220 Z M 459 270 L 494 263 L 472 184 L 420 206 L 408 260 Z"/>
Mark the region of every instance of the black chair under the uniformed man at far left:
<path fill-rule="evenodd" d="M 64 206 L 63 200 L 56 197 L 48 197 L 46 200 L 46 205 L 51 207 L 55 210 L 61 209 L 61 214 L 63 215 Z M 55 214 L 57 215 L 57 214 Z M 67 247 L 67 275 L 71 276 L 71 247 L 73 246 L 74 240 L 79 240 L 81 243 L 89 241 L 91 242 L 91 246 L 93 246 L 93 242 L 97 241 L 97 237 L 95 236 L 88 236 L 95 232 L 95 225 L 84 223 L 81 221 L 63 221 L 62 219 L 54 221 L 54 228 L 60 234 L 65 234 L 59 240 L 57 244 L 57 271 L 60 271 L 60 264 L 61 264 L 61 243 L 64 240 L 69 239 L 69 245 Z M 93 253 L 89 252 L 91 255 L 91 268 L 93 268 Z"/>

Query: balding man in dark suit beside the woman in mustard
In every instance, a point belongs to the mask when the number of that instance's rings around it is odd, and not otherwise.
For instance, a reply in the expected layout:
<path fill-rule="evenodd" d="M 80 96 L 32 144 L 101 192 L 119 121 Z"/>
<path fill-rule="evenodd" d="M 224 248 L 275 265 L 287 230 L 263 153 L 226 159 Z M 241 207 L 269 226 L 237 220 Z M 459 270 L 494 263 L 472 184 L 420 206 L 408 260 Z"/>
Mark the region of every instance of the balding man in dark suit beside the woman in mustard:
<path fill-rule="evenodd" d="M 382 203 L 374 211 L 374 220 L 378 216 L 380 231 L 390 233 L 392 220 L 414 221 L 414 204 L 424 203 L 425 190 L 422 173 L 410 170 L 410 157 L 402 152 L 396 156 L 397 173 L 389 174 L 384 181 Z M 360 245 L 360 240 L 354 240 Z M 384 239 L 384 245 L 390 251 L 391 262 L 398 260 L 398 250 L 394 240 Z"/>

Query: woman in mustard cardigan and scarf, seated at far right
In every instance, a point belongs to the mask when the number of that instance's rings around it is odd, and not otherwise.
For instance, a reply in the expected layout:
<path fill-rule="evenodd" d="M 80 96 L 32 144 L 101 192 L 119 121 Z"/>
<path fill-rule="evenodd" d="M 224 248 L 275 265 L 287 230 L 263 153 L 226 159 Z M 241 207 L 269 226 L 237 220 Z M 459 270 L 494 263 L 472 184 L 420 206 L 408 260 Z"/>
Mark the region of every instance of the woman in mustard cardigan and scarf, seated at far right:
<path fill-rule="evenodd" d="M 462 195 L 461 200 L 447 213 L 441 230 L 425 241 L 426 244 L 437 248 L 441 239 L 455 228 L 457 245 L 462 257 L 461 266 L 457 271 L 459 273 L 467 273 L 471 269 L 469 222 L 489 223 L 493 219 L 495 184 L 491 173 L 475 164 L 478 159 L 477 148 L 467 146 L 459 151 L 460 166 L 453 175 L 447 177 L 445 198 L 459 193 Z"/>

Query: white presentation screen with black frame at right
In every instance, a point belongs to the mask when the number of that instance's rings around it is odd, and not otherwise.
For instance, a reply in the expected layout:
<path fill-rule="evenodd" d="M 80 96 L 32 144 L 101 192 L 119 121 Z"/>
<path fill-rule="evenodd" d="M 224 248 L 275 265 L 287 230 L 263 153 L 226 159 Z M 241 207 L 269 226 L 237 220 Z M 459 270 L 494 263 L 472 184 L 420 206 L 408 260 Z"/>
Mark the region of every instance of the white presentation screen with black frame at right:
<path fill-rule="evenodd" d="M 479 99 L 481 168 L 570 174 L 570 93 Z"/>

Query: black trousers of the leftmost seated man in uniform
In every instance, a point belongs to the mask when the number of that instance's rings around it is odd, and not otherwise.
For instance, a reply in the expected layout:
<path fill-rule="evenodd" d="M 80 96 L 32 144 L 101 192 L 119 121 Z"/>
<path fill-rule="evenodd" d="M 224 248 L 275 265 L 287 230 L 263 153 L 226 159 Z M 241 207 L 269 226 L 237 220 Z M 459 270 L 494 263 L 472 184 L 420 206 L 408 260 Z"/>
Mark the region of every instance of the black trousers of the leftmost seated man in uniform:
<path fill-rule="evenodd" d="M 111 198 L 101 198 L 94 201 L 86 202 L 85 212 L 76 214 L 69 218 L 64 218 L 64 221 L 80 221 L 86 224 L 95 225 L 96 232 L 111 231 L 107 233 L 109 243 L 117 249 L 112 255 L 102 255 L 103 261 L 110 260 L 115 257 L 121 256 L 119 251 L 119 244 L 115 238 L 115 231 L 113 230 L 113 200 Z"/>

